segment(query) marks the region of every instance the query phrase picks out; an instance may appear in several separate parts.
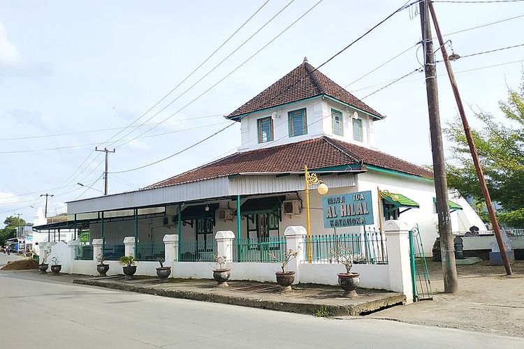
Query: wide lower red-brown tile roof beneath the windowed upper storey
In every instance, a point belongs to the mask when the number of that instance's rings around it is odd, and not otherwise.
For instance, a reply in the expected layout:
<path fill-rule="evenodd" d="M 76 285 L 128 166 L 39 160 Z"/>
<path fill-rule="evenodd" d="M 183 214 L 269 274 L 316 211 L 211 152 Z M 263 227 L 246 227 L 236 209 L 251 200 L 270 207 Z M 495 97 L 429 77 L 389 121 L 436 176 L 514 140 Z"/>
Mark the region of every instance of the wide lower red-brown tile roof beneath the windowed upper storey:
<path fill-rule="evenodd" d="M 189 170 L 148 186 L 158 188 L 204 179 L 226 177 L 249 172 L 300 172 L 307 165 L 311 170 L 340 165 L 364 163 L 420 177 L 433 177 L 432 172 L 381 151 L 368 149 L 322 136 L 291 144 L 242 151 Z"/>

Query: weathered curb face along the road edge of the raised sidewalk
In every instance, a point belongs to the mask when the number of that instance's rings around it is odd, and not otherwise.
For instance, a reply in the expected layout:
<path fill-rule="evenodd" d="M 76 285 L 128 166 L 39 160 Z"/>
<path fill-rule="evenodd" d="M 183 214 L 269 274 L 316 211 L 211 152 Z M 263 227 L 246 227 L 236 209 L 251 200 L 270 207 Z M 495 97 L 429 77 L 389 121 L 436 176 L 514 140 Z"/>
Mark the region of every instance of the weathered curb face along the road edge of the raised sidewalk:
<path fill-rule="evenodd" d="M 213 293 L 184 291 L 184 290 L 166 290 L 163 288 L 143 287 L 136 285 L 125 285 L 122 283 L 111 283 L 107 281 L 96 281 L 89 279 L 75 279 L 73 283 L 80 285 L 99 286 L 103 288 L 112 288 L 115 290 L 122 290 L 128 292 L 145 293 L 147 295 L 157 295 L 161 297 L 191 299 L 201 302 L 213 302 L 221 304 L 231 304 L 237 306 L 249 306 L 251 308 L 270 309 L 275 311 L 286 311 L 289 313 L 301 313 L 312 315 L 316 311 L 323 311 L 330 316 L 343 315 L 363 315 L 379 311 L 381 309 L 403 304 L 405 302 L 404 295 L 391 295 L 390 297 L 377 299 L 362 304 L 351 304 L 334 306 L 329 304 L 311 304 L 299 302 L 277 302 L 272 300 L 260 300 L 246 297 L 234 297 L 229 295 L 217 295 Z"/>

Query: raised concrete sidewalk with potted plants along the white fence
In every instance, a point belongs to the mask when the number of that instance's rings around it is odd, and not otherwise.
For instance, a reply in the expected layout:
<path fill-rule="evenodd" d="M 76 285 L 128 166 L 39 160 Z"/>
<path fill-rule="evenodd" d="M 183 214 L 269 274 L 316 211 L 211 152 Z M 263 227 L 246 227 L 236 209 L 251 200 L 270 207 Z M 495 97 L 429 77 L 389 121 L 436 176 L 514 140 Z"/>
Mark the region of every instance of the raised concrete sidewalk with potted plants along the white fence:
<path fill-rule="evenodd" d="M 290 292 L 281 292 L 275 283 L 231 281 L 228 288 L 217 288 L 214 280 L 167 279 L 137 277 L 125 281 L 122 276 L 108 278 L 82 277 L 74 283 L 117 290 L 147 293 L 163 297 L 193 299 L 205 302 L 234 304 L 252 308 L 289 311 L 292 313 L 360 315 L 395 304 L 402 304 L 404 295 L 385 290 L 358 289 L 358 297 L 342 297 L 338 287 L 326 285 L 293 285 Z"/>

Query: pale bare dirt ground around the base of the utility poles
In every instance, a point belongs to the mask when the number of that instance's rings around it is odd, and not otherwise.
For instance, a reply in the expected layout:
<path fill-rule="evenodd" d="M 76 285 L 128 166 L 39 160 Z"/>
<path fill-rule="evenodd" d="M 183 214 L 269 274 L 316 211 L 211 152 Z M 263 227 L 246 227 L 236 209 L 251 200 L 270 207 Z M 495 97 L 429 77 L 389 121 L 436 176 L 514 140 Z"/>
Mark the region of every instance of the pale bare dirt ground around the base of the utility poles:
<path fill-rule="evenodd" d="M 450 294 L 444 293 L 441 262 L 428 260 L 432 301 L 368 316 L 524 338 L 524 261 L 511 267 L 514 274 L 507 276 L 503 266 L 492 266 L 488 261 L 458 265 L 459 291 Z"/>

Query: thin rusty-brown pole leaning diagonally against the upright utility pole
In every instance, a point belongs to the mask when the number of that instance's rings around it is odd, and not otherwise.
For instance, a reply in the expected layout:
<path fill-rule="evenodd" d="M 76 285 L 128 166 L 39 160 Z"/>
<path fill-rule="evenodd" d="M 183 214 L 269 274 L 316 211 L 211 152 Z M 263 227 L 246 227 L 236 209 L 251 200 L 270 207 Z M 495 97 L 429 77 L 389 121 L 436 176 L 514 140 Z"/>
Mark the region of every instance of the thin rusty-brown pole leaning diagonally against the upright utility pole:
<path fill-rule="evenodd" d="M 506 252 L 506 248 L 504 247 L 504 242 L 502 242 L 502 236 L 500 235 L 500 228 L 499 223 L 497 222 L 497 216 L 495 216 L 495 210 L 493 209 L 493 205 L 491 204 L 491 196 L 490 192 L 488 191 L 488 186 L 486 184 L 486 178 L 484 178 L 484 174 L 480 165 L 479 154 L 476 152 L 475 142 L 472 138 L 470 131 L 470 124 L 467 122 L 466 113 L 464 111 L 464 105 L 462 104 L 462 98 L 460 98 L 460 94 L 458 93 L 457 82 L 455 81 L 455 75 L 453 75 L 453 68 L 451 68 L 451 63 L 449 63 L 448 52 L 446 51 L 446 47 L 444 47 L 444 40 L 442 39 L 439 22 L 437 22 L 437 16 L 435 15 L 435 8 L 433 8 L 433 4 L 431 2 L 429 3 L 429 9 L 433 20 L 433 25 L 435 25 L 435 31 L 437 32 L 437 38 L 439 38 L 439 45 L 442 50 L 442 57 L 444 58 L 444 64 L 446 65 L 446 70 L 448 72 L 449 82 L 451 83 L 453 94 L 455 95 L 455 101 L 457 103 L 460 119 L 462 119 L 464 133 L 467 139 L 467 145 L 470 147 L 470 153 L 472 155 L 473 163 L 475 165 L 476 177 L 479 178 L 482 194 L 484 196 L 484 200 L 486 201 L 486 207 L 488 208 L 488 212 L 490 215 L 491 225 L 493 225 L 493 231 L 495 232 L 495 239 L 497 239 L 497 244 L 499 246 L 502 262 L 504 262 L 504 269 L 506 269 L 507 275 L 511 275 L 511 265 L 509 264 L 509 258 Z"/>

